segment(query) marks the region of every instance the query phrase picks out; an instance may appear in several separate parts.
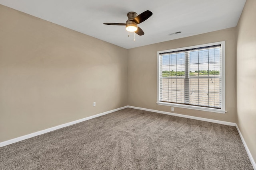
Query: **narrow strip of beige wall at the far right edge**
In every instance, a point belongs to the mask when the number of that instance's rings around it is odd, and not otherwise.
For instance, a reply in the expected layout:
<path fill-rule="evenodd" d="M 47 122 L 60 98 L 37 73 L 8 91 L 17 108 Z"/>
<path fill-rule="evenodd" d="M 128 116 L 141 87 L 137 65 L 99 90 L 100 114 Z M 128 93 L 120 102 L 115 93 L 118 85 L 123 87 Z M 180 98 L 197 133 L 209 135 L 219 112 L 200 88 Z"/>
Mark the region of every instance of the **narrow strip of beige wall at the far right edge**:
<path fill-rule="evenodd" d="M 247 0 L 237 25 L 238 127 L 256 160 L 256 0 Z"/>

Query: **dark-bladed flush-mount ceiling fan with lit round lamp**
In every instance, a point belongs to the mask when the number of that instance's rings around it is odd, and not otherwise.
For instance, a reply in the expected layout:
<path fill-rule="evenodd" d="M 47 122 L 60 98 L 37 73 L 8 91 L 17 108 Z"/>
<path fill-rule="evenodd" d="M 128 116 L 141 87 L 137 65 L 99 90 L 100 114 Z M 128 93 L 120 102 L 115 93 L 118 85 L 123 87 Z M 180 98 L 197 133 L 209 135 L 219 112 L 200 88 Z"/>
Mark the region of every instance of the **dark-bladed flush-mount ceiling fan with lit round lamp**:
<path fill-rule="evenodd" d="M 129 32 L 135 32 L 138 35 L 144 35 L 144 32 L 140 27 L 138 27 L 139 23 L 142 23 L 143 21 L 147 20 L 152 16 L 152 12 L 149 10 L 146 10 L 142 12 L 140 15 L 137 16 L 136 12 L 128 12 L 128 20 L 126 23 L 111 23 L 111 22 L 104 22 L 105 25 L 124 25 L 126 26 L 126 30 Z"/>

